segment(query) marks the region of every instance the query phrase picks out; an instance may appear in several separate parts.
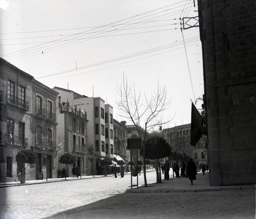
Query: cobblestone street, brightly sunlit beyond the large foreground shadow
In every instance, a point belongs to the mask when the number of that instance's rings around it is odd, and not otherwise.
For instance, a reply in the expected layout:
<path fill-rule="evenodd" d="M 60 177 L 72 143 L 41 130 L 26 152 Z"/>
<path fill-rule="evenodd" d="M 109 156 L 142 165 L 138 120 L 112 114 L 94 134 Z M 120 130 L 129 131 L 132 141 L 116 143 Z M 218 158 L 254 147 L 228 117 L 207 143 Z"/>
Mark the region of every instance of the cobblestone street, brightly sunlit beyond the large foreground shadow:
<path fill-rule="evenodd" d="M 255 218 L 255 190 L 125 193 L 130 176 L 0 188 L 6 197 L 0 204 L 1 219 Z M 147 181 L 156 181 L 155 172 L 147 173 Z"/>

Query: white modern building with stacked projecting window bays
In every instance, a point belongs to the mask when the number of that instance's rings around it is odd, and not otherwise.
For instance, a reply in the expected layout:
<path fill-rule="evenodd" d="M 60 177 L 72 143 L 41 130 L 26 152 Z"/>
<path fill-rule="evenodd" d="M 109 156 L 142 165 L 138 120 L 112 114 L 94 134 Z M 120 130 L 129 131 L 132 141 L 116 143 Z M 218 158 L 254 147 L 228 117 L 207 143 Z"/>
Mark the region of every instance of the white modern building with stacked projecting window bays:
<path fill-rule="evenodd" d="M 114 157 L 113 107 L 105 104 L 105 100 L 100 97 L 87 97 L 60 87 L 54 87 L 53 90 L 59 92 L 62 105 L 64 102 L 65 105 L 76 107 L 78 111 L 83 110 L 87 115 L 86 145 L 93 145 L 93 153 L 85 158 L 85 164 L 88 164 L 85 174 L 102 173 L 101 160 Z"/>

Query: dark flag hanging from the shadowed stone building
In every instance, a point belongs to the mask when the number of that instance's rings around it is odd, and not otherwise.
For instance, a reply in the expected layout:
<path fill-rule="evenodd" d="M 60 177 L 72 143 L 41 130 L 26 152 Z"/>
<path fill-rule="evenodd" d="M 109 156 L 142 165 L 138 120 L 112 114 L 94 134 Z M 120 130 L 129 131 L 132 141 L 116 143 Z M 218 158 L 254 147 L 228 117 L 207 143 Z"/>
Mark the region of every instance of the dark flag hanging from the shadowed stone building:
<path fill-rule="evenodd" d="M 191 107 L 191 135 L 190 144 L 196 146 L 196 143 L 203 135 L 203 118 L 192 102 Z"/>

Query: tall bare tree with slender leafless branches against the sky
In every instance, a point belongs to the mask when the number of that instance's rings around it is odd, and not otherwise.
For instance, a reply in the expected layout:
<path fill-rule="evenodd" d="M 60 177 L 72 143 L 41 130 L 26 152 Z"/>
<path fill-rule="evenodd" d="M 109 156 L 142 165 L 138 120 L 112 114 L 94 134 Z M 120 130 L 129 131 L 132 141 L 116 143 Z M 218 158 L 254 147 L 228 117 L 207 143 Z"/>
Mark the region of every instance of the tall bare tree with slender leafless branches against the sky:
<path fill-rule="evenodd" d="M 143 169 L 145 170 L 145 141 L 147 133 L 163 124 L 163 112 L 170 106 L 171 99 L 167 98 L 166 87 L 159 87 L 157 81 L 157 90 L 151 93 L 149 97 L 147 97 L 144 92 L 143 101 L 140 92 L 137 95 L 135 85 L 133 84 L 133 86 L 129 87 L 127 84 L 127 77 L 124 76 L 123 83 L 117 87 L 117 94 L 116 105 L 119 111 L 118 115 L 131 120 L 141 138 L 142 147 L 144 149 Z M 145 134 L 140 131 L 141 123 L 145 126 Z M 146 171 L 144 171 L 144 181 L 145 186 L 147 187 Z"/>

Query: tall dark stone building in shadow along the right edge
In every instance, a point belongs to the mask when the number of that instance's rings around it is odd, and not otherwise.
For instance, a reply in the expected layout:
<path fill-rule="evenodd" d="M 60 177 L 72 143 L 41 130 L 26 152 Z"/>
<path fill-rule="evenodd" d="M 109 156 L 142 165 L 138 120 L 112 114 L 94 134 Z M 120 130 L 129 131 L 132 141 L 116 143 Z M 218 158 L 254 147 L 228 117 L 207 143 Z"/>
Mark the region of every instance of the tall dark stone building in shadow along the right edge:
<path fill-rule="evenodd" d="M 211 185 L 255 183 L 256 2 L 199 0 Z"/>

